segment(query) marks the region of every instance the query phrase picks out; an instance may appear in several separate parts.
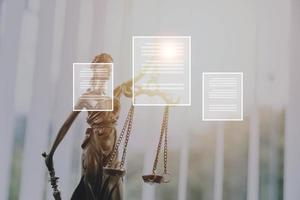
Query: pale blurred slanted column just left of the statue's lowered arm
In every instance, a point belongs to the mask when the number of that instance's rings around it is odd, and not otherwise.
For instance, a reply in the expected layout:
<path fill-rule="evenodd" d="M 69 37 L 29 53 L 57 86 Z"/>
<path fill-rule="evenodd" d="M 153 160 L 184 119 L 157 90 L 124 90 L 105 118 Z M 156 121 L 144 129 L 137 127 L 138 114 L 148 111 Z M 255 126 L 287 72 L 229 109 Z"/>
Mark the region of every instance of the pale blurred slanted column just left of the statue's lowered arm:
<path fill-rule="evenodd" d="M 47 150 L 51 113 L 50 67 L 53 44 L 55 1 L 40 5 L 35 72 L 31 108 L 28 113 L 24 141 L 20 199 L 42 199 L 45 186 L 45 165 L 41 153 Z M 28 184 L 29 182 L 34 184 Z M 32 192 L 34 191 L 34 192 Z"/>

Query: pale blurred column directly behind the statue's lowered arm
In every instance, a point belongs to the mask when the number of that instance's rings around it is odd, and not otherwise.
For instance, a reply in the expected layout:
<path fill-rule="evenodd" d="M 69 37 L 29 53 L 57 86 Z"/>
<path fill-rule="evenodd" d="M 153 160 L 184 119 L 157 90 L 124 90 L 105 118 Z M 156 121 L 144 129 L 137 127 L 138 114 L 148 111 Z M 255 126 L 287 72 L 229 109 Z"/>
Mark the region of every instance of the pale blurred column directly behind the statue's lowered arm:
<path fill-rule="evenodd" d="M 62 40 L 62 51 L 59 61 L 59 70 L 57 74 L 57 82 L 54 91 L 54 106 L 52 108 L 52 130 L 53 137 L 51 144 L 56 137 L 58 130 L 65 122 L 67 116 L 72 111 L 72 75 L 73 63 L 77 62 L 78 53 L 78 29 L 80 18 L 80 0 L 66 0 L 65 7 L 65 26 Z M 81 113 L 84 114 L 84 113 Z M 72 155 L 73 155 L 73 142 L 78 138 L 78 129 L 73 125 L 68 134 L 58 147 L 54 155 L 54 165 L 57 176 L 60 177 L 59 188 L 62 190 L 62 199 L 69 199 L 74 190 L 72 183 Z M 81 133 L 81 136 L 84 133 Z M 78 147 L 80 148 L 80 147 Z M 80 156 L 80 155 L 78 155 Z M 50 185 L 48 186 L 48 188 Z"/>

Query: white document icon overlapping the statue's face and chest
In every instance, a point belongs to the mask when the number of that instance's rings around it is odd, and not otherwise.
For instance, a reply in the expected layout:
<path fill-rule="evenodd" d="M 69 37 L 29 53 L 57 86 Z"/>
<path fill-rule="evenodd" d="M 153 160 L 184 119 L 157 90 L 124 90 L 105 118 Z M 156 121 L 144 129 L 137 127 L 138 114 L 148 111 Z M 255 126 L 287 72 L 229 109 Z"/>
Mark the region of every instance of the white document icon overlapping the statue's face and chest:
<path fill-rule="evenodd" d="M 113 110 L 113 63 L 73 64 L 73 110 Z"/>

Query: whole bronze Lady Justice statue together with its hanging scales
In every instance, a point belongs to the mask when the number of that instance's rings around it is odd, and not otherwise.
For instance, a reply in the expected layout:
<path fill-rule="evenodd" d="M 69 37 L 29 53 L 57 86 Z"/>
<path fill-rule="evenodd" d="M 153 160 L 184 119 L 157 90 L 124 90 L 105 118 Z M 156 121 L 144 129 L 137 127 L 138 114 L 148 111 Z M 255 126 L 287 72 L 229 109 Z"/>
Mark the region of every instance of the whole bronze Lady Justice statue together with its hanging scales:
<path fill-rule="evenodd" d="M 86 90 L 87 95 L 102 94 L 100 83 L 109 81 L 111 69 L 110 65 L 113 59 L 108 54 L 101 54 L 94 58 L 92 63 L 101 63 L 106 69 L 106 76 L 99 76 L 99 71 L 93 68 L 93 77 L 91 78 L 91 87 Z M 102 71 L 103 72 L 103 71 Z M 134 81 L 138 82 L 144 75 L 138 74 L 134 77 Z M 155 81 L 153 77 L 152 81 Z M 120 98 L 122 96 L 133 98 L 132 93 L 133 80 L 122 83 L 113 90 L 113 110 L 112 111 L 87 111 L 87 128 L 85 139 L 82 142 L 82 176 L 80 183 L 76 187 L 71 199 L 72 200 L 122 200 L 123 199 L 123 176 L 126 174 L 125 161 L 128 142 L 133 126 L 134 106 L 131 105 L 123 128 L 120 133 L 117 133 L 116 123 L 121 111 Z M 174 99 L 168 94 L 159 90 L 145 91 L 142 88 L 135 88 L 135 96 L 149 95 L 162 98 L 166 104 L 174 104 L 179 99 Z M 102 105 L 110 104 L 112 100 L 94 99 L 94 100 L 79 100 L 76 104 L 77 108 L 101 108 Z M 49 153 L 43 153 L 45 164 L 50 174 L 50 183 L 53 188 L 54 199 L 60 200 L 61 195 L 58 189 L 58 177 L 55 175 L 53 155 L 61 143 L 63 138 L 68 133 L 68 130 L 80 111 L 72 111 L 62 127 L 60 128 L 55 141 Z M 167 170 L 168 162 L 168 118 L 169 107 L 165 106 L 164 114 L 161 123 L 161 131 L 159 142 L 157 144 L 156 156 L 153 163 L 153 169 L 150 174 L 143 175 L 142 179 L 145 183 L 160 184 L 168 183 L 170 175 Z M 123 149 L 120 151 L 120 145 L 123 142 Z M 119 151 L 121 152 L 120 159 L 118 158 Z M 163 157 L 163 172 L 157 172 L 159 159 Z"/>

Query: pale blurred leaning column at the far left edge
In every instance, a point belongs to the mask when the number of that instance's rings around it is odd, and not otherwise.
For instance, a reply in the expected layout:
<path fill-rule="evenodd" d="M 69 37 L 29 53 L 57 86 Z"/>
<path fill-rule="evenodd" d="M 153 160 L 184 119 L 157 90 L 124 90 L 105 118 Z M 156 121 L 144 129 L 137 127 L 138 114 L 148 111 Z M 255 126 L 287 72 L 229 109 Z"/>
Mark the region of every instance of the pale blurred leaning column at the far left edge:
<path fill-rule="evenodd" d="M 3 2 L 2 2 L 3 3 Z M 14 138 L 14 98 L 18 50 L 25 0 L 5 2 L 4 26 L 0 38 L 0 199 L 8 198 L 12 144 Z M 5 16 L 4 16 L 5 15 Z"/>

